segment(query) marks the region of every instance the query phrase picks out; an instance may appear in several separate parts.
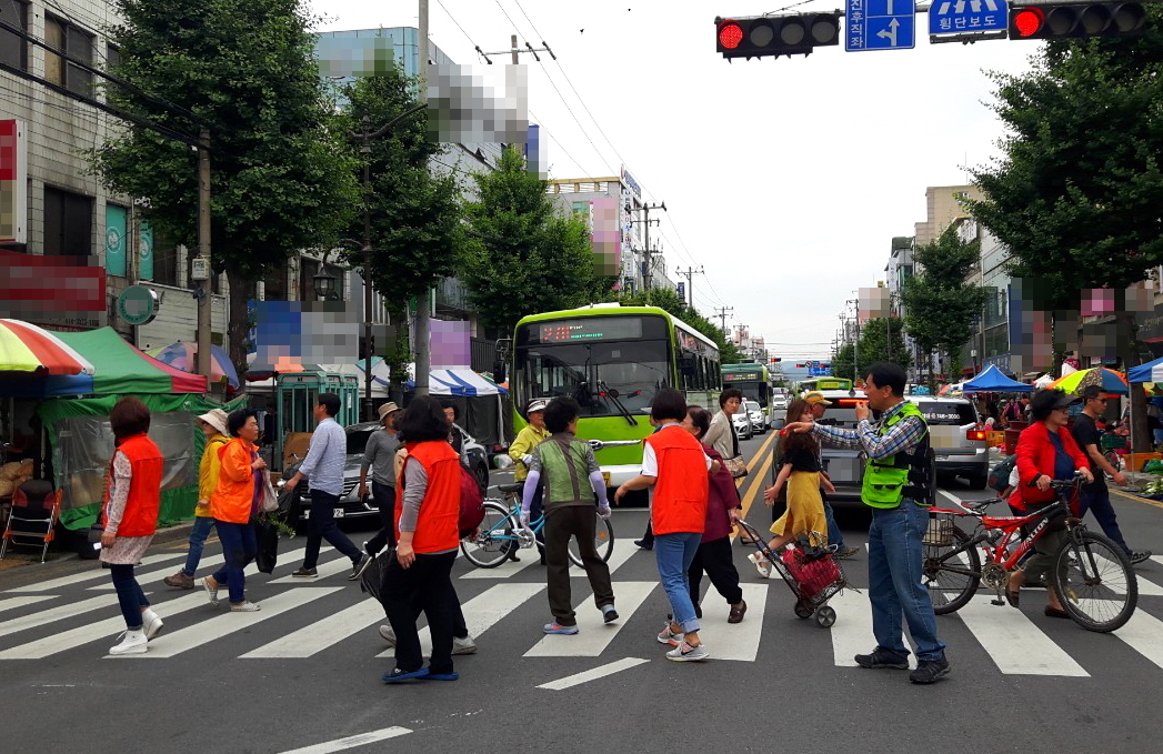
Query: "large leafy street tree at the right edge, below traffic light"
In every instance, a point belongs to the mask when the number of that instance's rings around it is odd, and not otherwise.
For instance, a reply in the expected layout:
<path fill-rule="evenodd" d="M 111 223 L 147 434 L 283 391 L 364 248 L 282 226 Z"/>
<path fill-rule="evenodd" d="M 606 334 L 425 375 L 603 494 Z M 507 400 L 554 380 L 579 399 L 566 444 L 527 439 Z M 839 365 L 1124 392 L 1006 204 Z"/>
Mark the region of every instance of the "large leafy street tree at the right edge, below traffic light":
<path fill-rule="evenodd" d="M 1163 101 L 1163 9 L 1147 12 L 1142 36 L 1050 42 L 1027 72 L 991 74 L 1006 135 L 973 171 L 984 198 L 970 208 L 1044 310 L 1077 311 L 1084 289 L 1123 289 L 1163 264 L 1163 131 L 1147 115 Z M 1116 316 L 1132 331 L 1134 315 Z M 1122 360 L 1135 364 L 1129 339 Z M 1146 446 L 1146 424 L 1135 440 Z"/>

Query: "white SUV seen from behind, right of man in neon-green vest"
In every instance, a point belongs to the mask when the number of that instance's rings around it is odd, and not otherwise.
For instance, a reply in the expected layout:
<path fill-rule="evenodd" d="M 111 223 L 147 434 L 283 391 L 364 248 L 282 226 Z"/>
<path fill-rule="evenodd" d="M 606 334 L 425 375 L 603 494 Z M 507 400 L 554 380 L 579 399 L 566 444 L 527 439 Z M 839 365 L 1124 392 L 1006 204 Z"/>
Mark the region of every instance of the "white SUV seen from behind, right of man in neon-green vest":
<path fill-rule="evenodd" d="M 929 444 L 939 476 L 963 476 L 973 489 L 985 489 L 990 476 L 990 446 L 977 425 L 977 410 L 968 398 L 909 395 L 929 423 Z"/>

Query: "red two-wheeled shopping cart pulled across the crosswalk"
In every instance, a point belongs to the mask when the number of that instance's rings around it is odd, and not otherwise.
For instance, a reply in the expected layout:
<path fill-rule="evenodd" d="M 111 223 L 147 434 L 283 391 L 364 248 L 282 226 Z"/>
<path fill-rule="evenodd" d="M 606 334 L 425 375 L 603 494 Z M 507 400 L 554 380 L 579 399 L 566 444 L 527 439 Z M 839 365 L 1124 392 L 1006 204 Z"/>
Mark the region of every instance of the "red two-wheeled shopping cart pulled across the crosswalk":
<path fill-rule="evenodd" d="M 836 546 L 797 545 L 787 547 L 780 555 L 768 547 L 768 538 L 745 520 L 740 520 L 739 525 L 755 540 L 756 550 L 779 572 L 795 595 L 795 617 L 811 618 L 814 615 L 815 622 L 823 629 L 834 624 L 836 611 L 828 601 L 848 587 L 844 569 L 833 556 Z M 812 532 L 809 539 L 822 541 L 822 537 L 815 532 Z"/>

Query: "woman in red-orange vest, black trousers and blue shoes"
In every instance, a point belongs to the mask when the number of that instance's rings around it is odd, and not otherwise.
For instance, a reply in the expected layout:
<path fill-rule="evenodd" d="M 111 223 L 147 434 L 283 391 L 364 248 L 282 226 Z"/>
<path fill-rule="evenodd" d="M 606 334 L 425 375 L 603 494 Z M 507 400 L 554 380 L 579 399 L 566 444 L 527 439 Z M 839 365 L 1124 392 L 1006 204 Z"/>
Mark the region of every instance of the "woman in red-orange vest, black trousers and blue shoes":
<path fill-rule="evenodd" d="M 448 444 L 444 409 L 431 396 L 413 398 L 400 433 L 408 451 L 397 483 L 395 559 L 384 572 L 380 599 L 395 633 L 395 668 L 384 683 L 412 678 L 456 681 L 452 624 L 457 597 L 452 561 L 461 544 L 461 457 Z M 428 617 L 431 660 L 423 667 L 415 608 Z"/>

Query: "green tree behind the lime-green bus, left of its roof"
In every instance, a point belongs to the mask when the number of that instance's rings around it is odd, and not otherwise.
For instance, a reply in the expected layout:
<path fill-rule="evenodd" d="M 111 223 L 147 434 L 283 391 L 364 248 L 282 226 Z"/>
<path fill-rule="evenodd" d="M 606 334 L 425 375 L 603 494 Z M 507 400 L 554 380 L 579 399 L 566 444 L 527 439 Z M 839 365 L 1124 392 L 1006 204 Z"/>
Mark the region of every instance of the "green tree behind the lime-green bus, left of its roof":
<path fill-rule="evenodd" d="M 609 290 L 609 279 L 595 273 L 588 228 L 557 209 L 515 148 L 475 180 L 461 278 L 484 324 L 512 332 L 523 316 L 572 309 Z"/>

